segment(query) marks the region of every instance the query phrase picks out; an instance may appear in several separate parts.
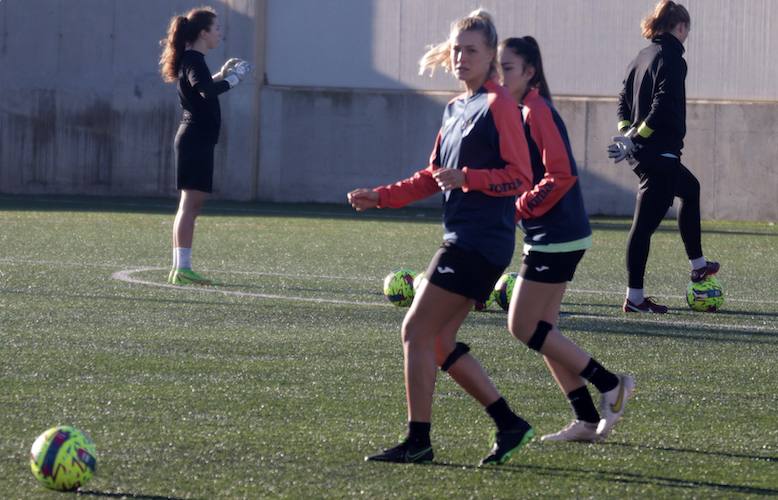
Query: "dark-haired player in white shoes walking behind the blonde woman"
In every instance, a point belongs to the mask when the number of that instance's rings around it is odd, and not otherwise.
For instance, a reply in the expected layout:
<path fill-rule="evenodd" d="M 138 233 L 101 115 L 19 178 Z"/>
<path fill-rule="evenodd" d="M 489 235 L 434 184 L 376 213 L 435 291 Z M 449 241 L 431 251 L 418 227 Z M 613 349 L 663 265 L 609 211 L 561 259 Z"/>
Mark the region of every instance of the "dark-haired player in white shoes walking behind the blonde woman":
<path fill-rule="evenodd" d="M 564 429 L 541 440 L 599 441 L 623 415 L 635 381 L 603 368 L 556 326 L 567 282 L 592 246 L 592 231 L 567 129 L 551 102 L 537 42 L 530 36 L 504 40 L 499 61 L 503 85 L 521 104 L 534 183 L 516 202 L 524 256 L 508 311 L 509 328 L 543 354 L 575 413 Z M 585 381 L 602 394 L 601 414 Z"/>

